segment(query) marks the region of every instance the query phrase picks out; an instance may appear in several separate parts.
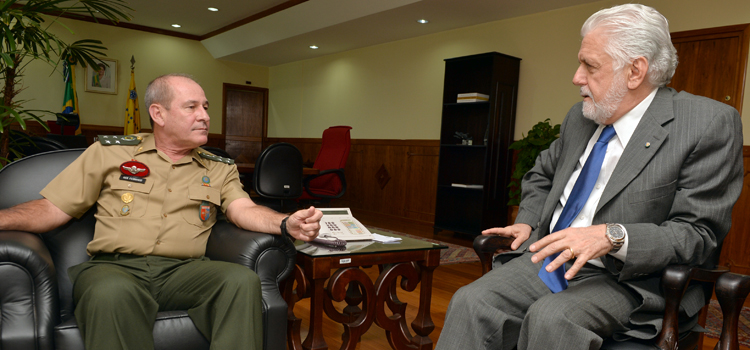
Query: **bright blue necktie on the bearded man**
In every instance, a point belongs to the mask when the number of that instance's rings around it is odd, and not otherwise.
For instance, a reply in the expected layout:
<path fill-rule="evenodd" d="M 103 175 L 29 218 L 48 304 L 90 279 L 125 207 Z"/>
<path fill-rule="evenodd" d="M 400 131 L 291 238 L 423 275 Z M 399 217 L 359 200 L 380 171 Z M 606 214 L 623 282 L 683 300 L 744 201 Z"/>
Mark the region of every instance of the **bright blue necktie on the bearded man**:
<path fill-rule="evenodd" d="M 565 203 L 565 207 L 563 207 L 560 218 L 557 219 L 552 232 L 568 228 L 576 216 L 578 216 L 578 213 L 581 212 L 581 209 L 583 209 L 583 206 L 589 199 L 589 195 L 591 195 L 591 190 L 594 189 L 596 179 L 599 178 L 599 171 L 602 169 L 602 162 L 604 161 L 604 155 L 607 153 L 609 140 L 614 136 L 615 128 L 612 125 L 607 125 L 602 130 L 602 134 L 599 135 L 599 139 L 594 144 L 594 148 L 591 150 L 588 159 L 586 159 L 586 163 L 578 175 L 578 180 L 576 180 L 576 184 L 573 186 L 570 197 L 568 197 L 568 201 Z M 568 288 L 568 281 L 565 279 L 565 265 L 560 266 L 552 272 L 547 272 L 544 269 L 558 255 L 560 255 L 559 252 L 544 258 L 542 269 L 539 270 L 539 278 L 549 287 L 552 293 L 561 292 Z"/>

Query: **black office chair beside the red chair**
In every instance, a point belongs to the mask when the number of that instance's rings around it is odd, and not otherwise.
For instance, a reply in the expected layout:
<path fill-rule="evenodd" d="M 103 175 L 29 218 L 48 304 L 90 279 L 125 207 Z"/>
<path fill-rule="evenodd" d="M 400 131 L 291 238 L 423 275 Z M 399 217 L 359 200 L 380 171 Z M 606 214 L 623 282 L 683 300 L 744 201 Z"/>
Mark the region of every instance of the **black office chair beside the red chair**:
<path fill-rule="evenodd" d="M 294 145 L 280 142 L 268 146 L 255 161 L 253 189 L 258 204 L 278 212 L 297 209 L 293 199 L 302 195 L 302 153 Z"/>

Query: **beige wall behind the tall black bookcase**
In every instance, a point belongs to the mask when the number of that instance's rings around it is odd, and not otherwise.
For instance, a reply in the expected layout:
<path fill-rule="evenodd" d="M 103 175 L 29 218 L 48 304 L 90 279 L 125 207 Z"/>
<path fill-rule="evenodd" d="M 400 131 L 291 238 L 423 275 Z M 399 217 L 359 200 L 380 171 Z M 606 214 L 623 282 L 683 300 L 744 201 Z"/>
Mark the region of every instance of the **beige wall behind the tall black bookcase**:
<path fill-rule="evenodd" d="M 750 23 L 747 0 L 642 0 L 672 31 Z M 522 58 L 516 139 L 538 121 L 559 123 L 580 100 L 571 79 L 581 24 L 601 1 L 377 45 L 270 68 L 268 134 L 320 137 L 351 125 L 355 138 L 438 139 L 443 59 L 498 51 Z M 745 94 L 750 125 L 750 93 Z M 745 130 L 750 143 L 750 128 Z"/>

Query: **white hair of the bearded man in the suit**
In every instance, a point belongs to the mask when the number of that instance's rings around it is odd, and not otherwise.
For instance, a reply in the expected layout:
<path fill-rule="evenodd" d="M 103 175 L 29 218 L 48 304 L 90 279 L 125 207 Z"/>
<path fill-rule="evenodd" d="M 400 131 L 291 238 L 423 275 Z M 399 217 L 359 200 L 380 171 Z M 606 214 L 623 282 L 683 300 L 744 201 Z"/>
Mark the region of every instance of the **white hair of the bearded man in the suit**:
<path fill-rule="evenodd" d="M 603 28 L 607 36 L 604 48 L 615 61 L 615 70 L 638 57 L 648 60 L 648 81 L 664 87 L 677 68 L 677 50 L 669 35 L 669 22 L 652 7 L 626 4 L 601 10 L 589 17 L 581 36 Z"/>

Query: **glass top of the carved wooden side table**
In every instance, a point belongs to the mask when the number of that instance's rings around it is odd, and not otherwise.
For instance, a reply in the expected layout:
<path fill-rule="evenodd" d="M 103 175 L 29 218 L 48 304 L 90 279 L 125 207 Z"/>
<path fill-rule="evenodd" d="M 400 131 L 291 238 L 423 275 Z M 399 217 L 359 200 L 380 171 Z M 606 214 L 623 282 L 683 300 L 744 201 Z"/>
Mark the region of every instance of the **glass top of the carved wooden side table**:
<path fill-rule="evenodd" d="M 347 241 L 346 247 L 343 249 L 326 248 L 320 245 L 314 246 L 309 243 L 297 240 L 294 245 L 297 248 L 298 253 L 305 254 L 310 257 L 325 257 L 325 256 L 346 256 L 346 255 L 358 255 L 358 254 L 376 254 L 376 253 L 392 253 L 399 251 L 410 251 L 410 250 L 431 250 L 431 249 L 447 249 L 447 246 L 422 241 L 419 239 L 409 238 L 390 232 L 380 230 L 370 230 L 372 233 L 381 234 L 390 237 L 401 238 L 400 242 L 396 243 L 380 243 L 376 241 Z"/>

